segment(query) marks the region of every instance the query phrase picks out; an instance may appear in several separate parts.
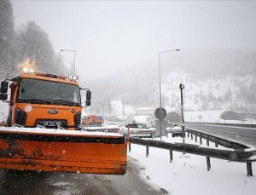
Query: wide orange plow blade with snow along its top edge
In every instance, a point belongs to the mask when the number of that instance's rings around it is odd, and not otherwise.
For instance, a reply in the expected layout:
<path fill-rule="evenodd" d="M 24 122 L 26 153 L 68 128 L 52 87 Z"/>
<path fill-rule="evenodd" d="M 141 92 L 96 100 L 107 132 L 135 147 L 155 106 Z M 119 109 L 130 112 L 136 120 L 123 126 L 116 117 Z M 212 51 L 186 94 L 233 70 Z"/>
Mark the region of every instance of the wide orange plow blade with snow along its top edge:
<path fill-rule="evenodd" d="M 0 129 L 0 168 L 125 175 L 124 136 L 60 129 Z"/>

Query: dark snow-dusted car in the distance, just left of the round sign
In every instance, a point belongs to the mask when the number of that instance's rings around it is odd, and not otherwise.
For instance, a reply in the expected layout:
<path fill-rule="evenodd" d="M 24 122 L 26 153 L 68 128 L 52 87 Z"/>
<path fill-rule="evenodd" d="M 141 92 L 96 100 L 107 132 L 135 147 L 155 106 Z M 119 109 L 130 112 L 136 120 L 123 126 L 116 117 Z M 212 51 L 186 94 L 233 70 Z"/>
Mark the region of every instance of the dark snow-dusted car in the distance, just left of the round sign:
<path fill-rule="evenodd" d="M 123 135 L 128 135 L 128 124 L 120 127 Z M 154 137 L 155 128 L 149 128 L 144 123 L 131 123 L 130 136 L 131 137 Z"/>

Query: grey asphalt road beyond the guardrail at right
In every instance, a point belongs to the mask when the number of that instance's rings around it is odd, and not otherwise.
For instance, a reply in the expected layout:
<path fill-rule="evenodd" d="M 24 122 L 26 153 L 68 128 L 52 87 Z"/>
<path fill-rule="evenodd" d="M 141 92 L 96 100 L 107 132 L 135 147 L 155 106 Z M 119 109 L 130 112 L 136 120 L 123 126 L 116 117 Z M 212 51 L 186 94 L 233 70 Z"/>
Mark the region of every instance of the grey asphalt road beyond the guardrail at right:
<path fill-rule="evenodd" d="M 231 141 L 256 147 L 256 128 L 244 128 L 203 123 L 185 123 L 186 128 L 200 130 Z"/>

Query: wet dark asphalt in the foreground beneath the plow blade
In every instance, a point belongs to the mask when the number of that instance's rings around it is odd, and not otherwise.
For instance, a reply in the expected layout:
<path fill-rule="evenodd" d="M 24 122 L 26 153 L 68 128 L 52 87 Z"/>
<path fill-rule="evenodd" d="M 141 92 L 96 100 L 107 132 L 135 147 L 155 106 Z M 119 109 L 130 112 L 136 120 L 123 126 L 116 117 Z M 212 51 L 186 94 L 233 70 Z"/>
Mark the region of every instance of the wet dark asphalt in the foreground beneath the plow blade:
<path fill-rule="evenodd" d="M 0 194 L 165 194 L 139 177 L 143 167 L 129 158 L 125 175 L 86 175 L 0 169 Z M 149 179 L 149 178 L 148 178 Z"/>

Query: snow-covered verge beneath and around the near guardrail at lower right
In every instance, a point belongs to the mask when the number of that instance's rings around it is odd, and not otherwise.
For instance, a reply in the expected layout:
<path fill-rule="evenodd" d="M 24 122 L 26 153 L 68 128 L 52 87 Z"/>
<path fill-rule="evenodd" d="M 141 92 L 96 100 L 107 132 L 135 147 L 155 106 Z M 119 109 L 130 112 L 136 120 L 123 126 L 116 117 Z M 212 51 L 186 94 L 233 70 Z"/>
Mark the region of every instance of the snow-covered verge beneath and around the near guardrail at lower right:
<path fill-rule="evenodd" d="M 182 142 L 182 139 L 169 136 L 164 137 L 163 141 Z M 186 142 L 195 144 L 189 138 Z M 203 144 L 206 145 L 206 141 Z M 128 153 L 143 167 L 143 180 L 173 195 L 253 195 L 256 192 L 256 177 L 247 177 L 246 163 L 211 158 L 212 169 L 207 171 L 205 157 L 173 152 L 173 161 L 170 163 L 169 155 L 168 150 L 149 147 L 149 156 L 146 158 L 146 147 L 135 144 L 131 144 L 131 152 Z M 255 165 L 253 163 L 254 169 Z"/>

